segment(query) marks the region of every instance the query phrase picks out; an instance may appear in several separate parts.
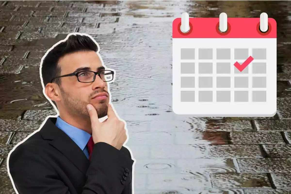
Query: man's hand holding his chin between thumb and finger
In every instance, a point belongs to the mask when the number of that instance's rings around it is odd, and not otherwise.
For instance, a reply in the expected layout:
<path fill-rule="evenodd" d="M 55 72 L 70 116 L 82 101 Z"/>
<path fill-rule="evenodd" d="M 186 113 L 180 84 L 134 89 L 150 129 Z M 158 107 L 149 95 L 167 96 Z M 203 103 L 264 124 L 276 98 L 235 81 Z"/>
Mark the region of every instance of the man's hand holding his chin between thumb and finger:
<path fill-rule="evenodd" d="M 88 104 L 87 110 L 91 120 L 92 137 L 94 143 L 105 142 L 117 149 L 121 149 L 127 139 L 125 124 L 115 115 L 112 106 L 108 105 L 107 120 L 100 122 L 93 105 Z"/>

